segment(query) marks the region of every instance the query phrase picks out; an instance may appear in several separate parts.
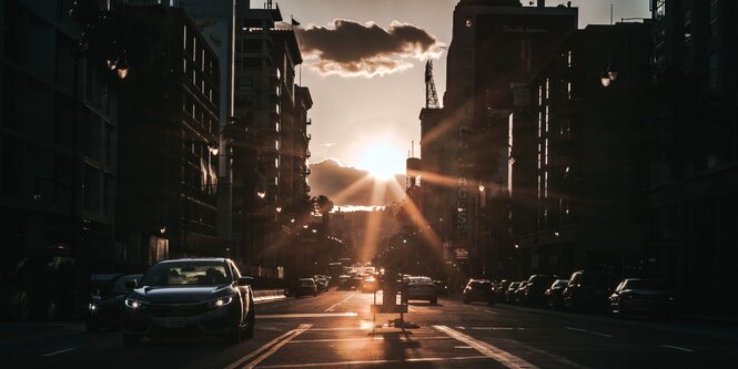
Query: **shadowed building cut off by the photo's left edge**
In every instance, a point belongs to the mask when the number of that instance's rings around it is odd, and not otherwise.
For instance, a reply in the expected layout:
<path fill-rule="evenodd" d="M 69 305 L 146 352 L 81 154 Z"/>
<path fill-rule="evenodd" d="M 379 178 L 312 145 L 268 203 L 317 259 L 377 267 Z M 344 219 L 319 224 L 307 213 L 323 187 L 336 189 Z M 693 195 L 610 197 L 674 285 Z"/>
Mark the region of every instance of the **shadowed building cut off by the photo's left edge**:
<path fill-rule="evenodd" d="M 78 48 L 83 24 L 63 3 L 0 3 L 0 285 L 12 295 L 0 298 L 19 301 L 0 314 L 10 319 L 69 318 L 90 273 L 117 257 L 114 48 L 95 27 Z"/>

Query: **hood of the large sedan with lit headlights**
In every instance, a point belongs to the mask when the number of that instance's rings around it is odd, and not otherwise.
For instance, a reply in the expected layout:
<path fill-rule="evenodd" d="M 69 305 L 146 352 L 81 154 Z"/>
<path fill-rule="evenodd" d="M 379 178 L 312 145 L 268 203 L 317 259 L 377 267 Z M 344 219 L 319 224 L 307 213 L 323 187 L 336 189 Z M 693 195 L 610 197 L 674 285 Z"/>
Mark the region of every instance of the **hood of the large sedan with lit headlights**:
<path fill-rule="evenodd" d="M 202 300 L 226 295 L 228 290 L 231 288 L 230 285 L 142 287 L 135 289 L 131 297 L 140 298 L 152 304 L 200 303 Z"/>

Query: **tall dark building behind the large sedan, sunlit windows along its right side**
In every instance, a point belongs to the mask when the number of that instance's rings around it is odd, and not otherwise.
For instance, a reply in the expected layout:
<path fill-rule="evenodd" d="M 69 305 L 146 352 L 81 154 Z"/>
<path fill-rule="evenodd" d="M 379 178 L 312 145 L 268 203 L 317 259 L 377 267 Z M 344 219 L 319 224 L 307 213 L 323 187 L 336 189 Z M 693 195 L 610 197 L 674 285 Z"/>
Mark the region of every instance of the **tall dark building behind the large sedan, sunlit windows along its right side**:
<path fill-rule="evenodd" d="M 118 6 L 135 60 L 121 88 L 117 239 L 127 264 L 223 256 L 218 236 L 220 63 L 183 9 Z M 165 52 L 162 52 L 165 51 Z M 156 88 L 152 88 L 156 86 Z"/>

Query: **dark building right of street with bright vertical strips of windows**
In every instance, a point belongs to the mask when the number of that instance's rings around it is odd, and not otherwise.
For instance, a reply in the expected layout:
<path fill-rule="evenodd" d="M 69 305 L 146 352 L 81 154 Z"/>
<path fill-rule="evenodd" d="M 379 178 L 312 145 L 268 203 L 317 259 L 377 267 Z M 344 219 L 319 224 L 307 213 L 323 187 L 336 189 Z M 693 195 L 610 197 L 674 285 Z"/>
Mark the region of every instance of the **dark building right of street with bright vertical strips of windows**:
<path fill-rule="evenodd" d="M 649 34 L 648 22 L 587 25 L 528 85 L 513 122 L 508 275 L 643 268 Z"/>

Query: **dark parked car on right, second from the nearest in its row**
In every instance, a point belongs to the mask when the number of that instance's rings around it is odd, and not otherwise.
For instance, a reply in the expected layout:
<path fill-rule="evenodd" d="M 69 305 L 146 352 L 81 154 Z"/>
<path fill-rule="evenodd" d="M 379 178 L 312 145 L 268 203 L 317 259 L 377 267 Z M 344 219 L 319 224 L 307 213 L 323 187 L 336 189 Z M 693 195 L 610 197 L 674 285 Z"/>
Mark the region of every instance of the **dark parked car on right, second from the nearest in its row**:
<path fill-rule="evenodd" d="M 615 289 L 615 277 L 606 271 L 579 270 L 572 274 L 562 293 L 563 306 L 568 309 L 605 310 Z"/>

